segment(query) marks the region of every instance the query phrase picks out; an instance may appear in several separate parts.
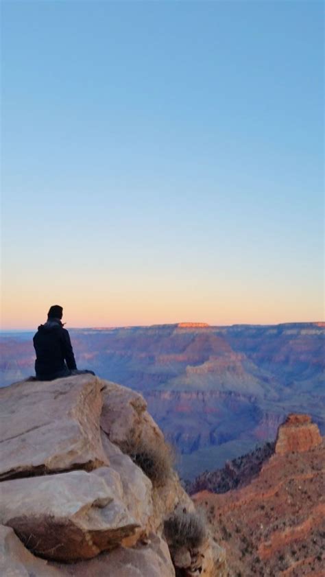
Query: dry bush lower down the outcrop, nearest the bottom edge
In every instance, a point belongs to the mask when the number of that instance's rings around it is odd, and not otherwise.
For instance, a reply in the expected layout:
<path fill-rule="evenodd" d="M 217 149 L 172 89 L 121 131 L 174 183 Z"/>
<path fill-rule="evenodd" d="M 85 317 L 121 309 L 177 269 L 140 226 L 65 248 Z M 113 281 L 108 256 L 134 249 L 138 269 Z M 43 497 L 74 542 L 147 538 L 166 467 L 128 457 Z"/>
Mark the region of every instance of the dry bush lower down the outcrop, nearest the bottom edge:
<path fill-rule="evenodd" d="M 206 523 L 198 513 L 177 512 L 164 523 L 167 543 L 173 549 L 196 549 L 206 539 Z"/>

